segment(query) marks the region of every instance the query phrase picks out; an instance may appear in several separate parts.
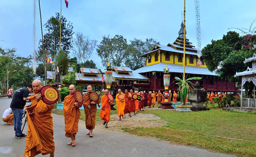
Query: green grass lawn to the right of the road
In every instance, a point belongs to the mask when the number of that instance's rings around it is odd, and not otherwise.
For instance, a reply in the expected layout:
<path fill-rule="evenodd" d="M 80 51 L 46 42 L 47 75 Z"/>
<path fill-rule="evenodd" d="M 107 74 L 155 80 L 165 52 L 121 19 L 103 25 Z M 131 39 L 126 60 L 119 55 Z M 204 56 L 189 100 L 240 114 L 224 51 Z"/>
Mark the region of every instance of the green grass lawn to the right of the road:
<path fill-rule="evenodd" d="M 222 111 L 215 108 L 209 111 L 180 113 L 172 110 L 145 110 L 170 122 L 166 128 L 122 128 L 124 131 L 143 137 L 156 137 L 174 144 L 194 145 L 211 151 L 237 154 L 245 157 L 256 156 L 256 142 L 229 140 L 201 134 L 217 135 L 242 140 L 256 141 L 256 115 Z M 195 131 L 197 133 L 178 130 Z"/>

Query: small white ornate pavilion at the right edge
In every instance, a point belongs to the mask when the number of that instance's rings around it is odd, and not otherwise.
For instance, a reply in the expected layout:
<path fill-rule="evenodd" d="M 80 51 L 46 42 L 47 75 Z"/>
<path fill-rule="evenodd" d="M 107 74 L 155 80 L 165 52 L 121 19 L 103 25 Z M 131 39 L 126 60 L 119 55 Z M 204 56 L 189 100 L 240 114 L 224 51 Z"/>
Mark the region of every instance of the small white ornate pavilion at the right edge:
<path fill-rule="evenodd" d="M 255 86 L 256 86 L 256 54 L 253 54 L 253 57 L 245 59 L 244 63 L 252 62 L 252 68 L 247 67 L 247 70 L 237 73 L 236 77 L 242 77 L 242 83 L 241 83 L 241 109 L 249 109 L 249 110 L 255 110 L 256 109 L 256 99 L 255 99 Z M 243 98 L 243 86 L 246 82 L 253 82 L 254 89 L 253 89 L 253 95 L 254 98 Z"/>

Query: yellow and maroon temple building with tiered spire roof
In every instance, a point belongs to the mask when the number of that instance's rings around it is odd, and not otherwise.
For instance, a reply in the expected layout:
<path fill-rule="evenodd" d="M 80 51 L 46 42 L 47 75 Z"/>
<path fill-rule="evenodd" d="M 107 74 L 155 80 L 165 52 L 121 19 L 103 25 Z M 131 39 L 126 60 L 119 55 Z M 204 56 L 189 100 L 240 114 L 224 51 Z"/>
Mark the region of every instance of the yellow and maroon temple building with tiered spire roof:
<path fill-rule="evenodd" d="M 183 37 L 184 26 L 181 23 L 180 31 L 178 32 L 177 39 L 172 44 L 155 45 L 150 52 L 147 52 L 141 57 L 146 58 L 145 66 L 140 69 L 134 70 L 134 73 L 139 73 L 150 79 L 150 90 L 164 91 L 163 86 L 163 68 L 167 67 L 171 72 L 169 89 L 177 91 L 177 84 L 175 84 L 175 77 L 182 79 L 183 74 Z M 210 72 L 207 66 L 204 64 L 204 60 L 201 58 L 202 65 L 197 66 L 198 62 L 198 49 L 189 42 L 186 38 L 185 42 L 185 73 L 186 78 L 190 77 L 202 77 L 198 80 L 201 87 L 204 87 L 208 92 L 236 92 L 236 82 L 228 81 L 227 79 L 218 78 L 217 74 Z M 195 83 L 195 80 L 192 80 Z"/>

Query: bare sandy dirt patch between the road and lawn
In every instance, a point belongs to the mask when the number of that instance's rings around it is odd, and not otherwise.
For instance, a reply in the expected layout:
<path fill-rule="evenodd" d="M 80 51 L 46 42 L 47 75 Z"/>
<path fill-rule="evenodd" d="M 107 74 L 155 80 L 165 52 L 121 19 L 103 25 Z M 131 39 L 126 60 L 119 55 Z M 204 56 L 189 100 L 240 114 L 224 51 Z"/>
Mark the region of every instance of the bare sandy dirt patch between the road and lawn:
<path fill-rule="evenodd" d="M 122 128 L 129 127 L 160 127 L 163 125 L 168 125 L 169 122 L 161 120 L 160 117 L 155 116 L 154 114 L 143 114 L 138 113 L 136 116 L 132 114 L 132 116 L 126 115 L 125 119 L 122 121 L 117 121 L 119 117 L 117 114 L 112 114 L 110 116 L 110 121 L 108 122 L 108 128 L 105 128 L 105 125 L 102 125 L 103 121 L 96 122 L 97 129 L 108 130 L 108 131 L 119 131 L 123 132 Z"/>

